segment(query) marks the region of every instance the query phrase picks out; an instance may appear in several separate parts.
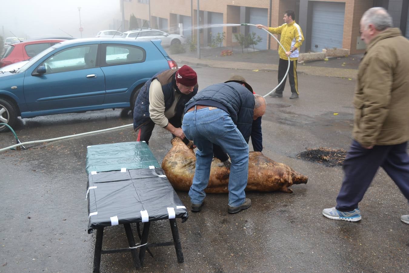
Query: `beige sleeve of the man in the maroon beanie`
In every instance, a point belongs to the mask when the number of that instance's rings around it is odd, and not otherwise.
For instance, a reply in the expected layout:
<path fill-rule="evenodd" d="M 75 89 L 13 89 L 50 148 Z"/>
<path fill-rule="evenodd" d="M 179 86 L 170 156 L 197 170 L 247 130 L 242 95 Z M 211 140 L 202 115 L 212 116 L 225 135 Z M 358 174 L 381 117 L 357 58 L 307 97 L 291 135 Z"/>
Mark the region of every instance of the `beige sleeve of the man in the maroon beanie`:
<path fill-rule="evenodd" d="M 158 126 L 164 128 L 168 125 L 169 121 L 165 117 L 165 97 L 162 85 L 157 79 L 154 79 L 149 87 L 149 115 Z"/>

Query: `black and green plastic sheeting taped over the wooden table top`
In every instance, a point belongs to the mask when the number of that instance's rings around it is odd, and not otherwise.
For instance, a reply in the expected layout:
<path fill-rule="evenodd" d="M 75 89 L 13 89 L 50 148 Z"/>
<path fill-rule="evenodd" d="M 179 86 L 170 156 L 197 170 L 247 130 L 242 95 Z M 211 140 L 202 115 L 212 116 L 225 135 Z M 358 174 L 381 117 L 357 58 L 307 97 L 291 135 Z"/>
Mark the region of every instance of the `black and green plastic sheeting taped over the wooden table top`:
<path fill-rule="evenodd" d="M 133 142 L 127 142 L 133 143 Z M 135 142 L 146 153 L 146 144 L 139 145 L 142 142 Z M 110 145 L 106 149 L 107 157 L 112 158 L 110 153 L 117 154 L 117 145 L 112 149 Z M 103 162 L 103 145 L 99 146 L 98 162 Z M 146 147 L 144 147 L 146 146 Z M 93 146 L 88 147 L 88 151 L 94 150 Z M 95 151 L 95 150 L 94 150 Z M 153 167 L 159 165 L 148 148 L 150 155 L 156 164 L 152 163 L 151 158 L 144 168 L 123 169 L 120 157 L 116 166 L 118 169 L 113 171 L 89 171 L 87 185 L 88 199 L 88 233 L 93 229 L 106 226 L 118 225 L 123 223 L 136 223 L 146 221 L 156 221 L 163 219 L 181 218 L 182 222 L 188 218 L 188 212 L 182 201 L 179 199 L 175 190 L 166 178 L 161 168 Z M 92 170 L 94 166 L 89 164 L 93 157 L 87 154 L 87 169 Z M 101 165 L 100 165 L 101 166 Z M 138 165 L 142 166 L 142 165 Z M 149 167 L 151 166 L 151 167 Z M 108 167 L 109 169 L 110 167 Z"/>

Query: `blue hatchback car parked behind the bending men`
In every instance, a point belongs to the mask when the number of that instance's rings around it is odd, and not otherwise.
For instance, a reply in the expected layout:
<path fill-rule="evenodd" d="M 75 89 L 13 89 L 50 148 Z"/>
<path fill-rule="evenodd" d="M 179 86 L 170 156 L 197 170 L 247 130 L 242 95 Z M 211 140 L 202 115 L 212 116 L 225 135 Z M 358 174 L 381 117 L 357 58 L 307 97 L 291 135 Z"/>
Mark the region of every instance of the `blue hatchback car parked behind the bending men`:
<path fill-rule="evenodd" d="M 133 109 L 144 83 L 177 69 L 160 40 L 75 39 L 41 52 L 17 71 L 0 72 L 0 123 L 106 108 Z M 0 68 L 1 70 L 1 68 Z M 0 126 L 0 132 L 7 126 Z"/>

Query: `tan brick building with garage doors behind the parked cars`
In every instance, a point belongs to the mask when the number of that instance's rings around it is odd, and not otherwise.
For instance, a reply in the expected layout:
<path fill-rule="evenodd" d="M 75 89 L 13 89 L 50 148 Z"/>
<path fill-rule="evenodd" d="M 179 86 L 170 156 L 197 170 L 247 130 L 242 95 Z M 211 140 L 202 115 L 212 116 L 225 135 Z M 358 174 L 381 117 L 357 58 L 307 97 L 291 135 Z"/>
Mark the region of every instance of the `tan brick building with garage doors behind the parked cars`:
<path fill-rule="evenodd" d="M 120 0 L 124 30 L 131 14 L 138 26 L 162 29 L 170 33 L 196 36 L 197 0 Z M 263 40 L 258 50 L 277 49 L 278 44 L 262 29 L 252 26 L 221 26 L 251 23 L 278 26 L 283 14 L 292 9 L 303 30 L 301 52 L 321 52 L 324 48 L 346 48 L 351 54 L 362 53 L 359 22 L 364 11 L 384 7 L 393 17 L 395 27 L 409 38 L 408 0 L 206 0 L 199 1 L 199 33 L 202 46 L 211 43 L 211 35 L 225 32 L 225 46 L 237 44 L 234 33 L 255 32 Z"/>

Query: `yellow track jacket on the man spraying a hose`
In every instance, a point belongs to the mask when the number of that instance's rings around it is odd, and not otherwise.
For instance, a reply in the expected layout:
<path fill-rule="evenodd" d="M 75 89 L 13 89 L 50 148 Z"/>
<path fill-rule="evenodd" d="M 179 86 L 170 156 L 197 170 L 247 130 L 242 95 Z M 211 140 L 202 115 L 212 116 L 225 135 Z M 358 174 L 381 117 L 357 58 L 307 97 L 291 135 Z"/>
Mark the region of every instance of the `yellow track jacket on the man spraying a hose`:
<path fill-rule="evenodd" d="M 301 27 L 293 21 L 290 24 L 284 23 L 279 27 L 269 27 L 268 31 L 273 34 L 281 34 L 280 43 L 283 45 L 285 50 L 281 46 L 279 46 L 279 55 L 281 59 L 288 60 L 287 55 L 285 55 L 286 51 L 290 51 L 292 47 L 297 47 L 297 50 L 290 55 L 290 60 L 294 61 L 298 59 L 299 56 L 299 48 L 304 41 L 303 32 Z"/>

